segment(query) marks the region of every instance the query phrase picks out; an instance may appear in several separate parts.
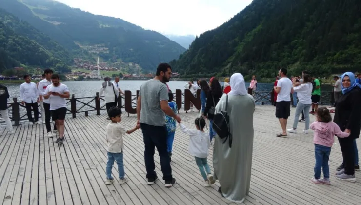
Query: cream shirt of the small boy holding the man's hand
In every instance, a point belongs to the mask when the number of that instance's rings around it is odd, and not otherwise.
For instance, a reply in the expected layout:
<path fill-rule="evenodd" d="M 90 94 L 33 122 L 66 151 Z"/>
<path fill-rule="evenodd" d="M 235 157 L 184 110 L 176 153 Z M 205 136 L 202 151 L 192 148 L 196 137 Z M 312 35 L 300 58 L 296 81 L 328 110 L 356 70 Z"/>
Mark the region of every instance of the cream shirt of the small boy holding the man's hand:
<path fill-rule="evenodd" d="M 120 153 L 123 151 L 123 135 L 126 130 L 119 123 L 109 123 L 106 126 L 107 152 Z"/>

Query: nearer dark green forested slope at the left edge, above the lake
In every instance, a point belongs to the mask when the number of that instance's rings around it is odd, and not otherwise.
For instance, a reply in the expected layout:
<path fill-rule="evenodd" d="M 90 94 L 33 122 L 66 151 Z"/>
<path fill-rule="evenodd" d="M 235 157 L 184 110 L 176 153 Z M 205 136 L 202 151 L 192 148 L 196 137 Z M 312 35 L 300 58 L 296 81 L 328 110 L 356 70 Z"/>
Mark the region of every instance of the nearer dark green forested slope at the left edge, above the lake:
<path fill-rule="evenodd" d="M 20 63 L 26 66 L 60 67 L 72 62 L 68 52 L 57 42 L 2 9 L 0 56 L 0 72 L 22 66 Z"/>

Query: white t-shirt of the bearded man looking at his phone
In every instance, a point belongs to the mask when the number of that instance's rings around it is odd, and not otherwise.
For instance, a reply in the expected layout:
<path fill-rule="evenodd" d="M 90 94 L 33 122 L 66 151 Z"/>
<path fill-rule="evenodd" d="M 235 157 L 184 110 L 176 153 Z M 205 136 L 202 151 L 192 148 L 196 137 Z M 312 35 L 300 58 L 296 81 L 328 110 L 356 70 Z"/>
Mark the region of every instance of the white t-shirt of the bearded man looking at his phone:
<path fill-rule="evenodd" d="M 63 83 L 59 83 L 57 87 L 55 87 L 54 84 L 51 84 L 46 87 L 45 93 L 48 92 L 57 92 L 60 94 L 64 94 L 64 92 L 69 92 L 69 88 Z M 50 95 L 49 99 L 50 99 L 50 110 L 57 110 L 61 107 L 66 107 L 65 98 L 61 98 L 60 96 Z"/>

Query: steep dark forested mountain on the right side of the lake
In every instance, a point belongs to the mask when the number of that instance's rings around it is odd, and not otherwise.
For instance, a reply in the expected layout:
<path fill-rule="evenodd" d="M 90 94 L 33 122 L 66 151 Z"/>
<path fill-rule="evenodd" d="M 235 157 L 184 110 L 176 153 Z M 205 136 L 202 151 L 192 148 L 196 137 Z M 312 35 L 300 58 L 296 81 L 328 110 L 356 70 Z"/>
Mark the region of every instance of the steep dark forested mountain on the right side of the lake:
<path fill-rule="evenodd" d="M 360 0 L 254 0 L 196 37 L 171 65 L 189 77 L 241 72 L 249 79 L 311 70 L 326 76 L 361 65 Z"/>

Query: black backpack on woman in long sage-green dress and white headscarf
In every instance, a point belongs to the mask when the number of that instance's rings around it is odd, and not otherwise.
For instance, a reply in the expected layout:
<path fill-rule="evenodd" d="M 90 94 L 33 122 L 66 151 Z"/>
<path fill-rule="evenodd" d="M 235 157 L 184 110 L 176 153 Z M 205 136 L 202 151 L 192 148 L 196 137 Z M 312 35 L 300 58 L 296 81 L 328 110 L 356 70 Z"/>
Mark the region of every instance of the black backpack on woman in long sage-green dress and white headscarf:
<path fill-rule="evenodd" d="M 227 113 L 228 107 L 228 95 L 226 99 L 226 107 L 224 111 L 216 113 L 213 117 L 213 130 L 216 131 L 221 139 L 224 139 L 223 143 L 229 138 L 229 148 L 232 147 L 232 134 L 229 128 L 229 116 Z"/>

